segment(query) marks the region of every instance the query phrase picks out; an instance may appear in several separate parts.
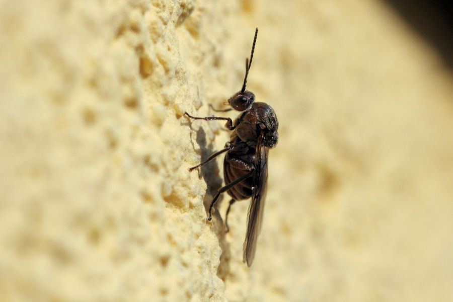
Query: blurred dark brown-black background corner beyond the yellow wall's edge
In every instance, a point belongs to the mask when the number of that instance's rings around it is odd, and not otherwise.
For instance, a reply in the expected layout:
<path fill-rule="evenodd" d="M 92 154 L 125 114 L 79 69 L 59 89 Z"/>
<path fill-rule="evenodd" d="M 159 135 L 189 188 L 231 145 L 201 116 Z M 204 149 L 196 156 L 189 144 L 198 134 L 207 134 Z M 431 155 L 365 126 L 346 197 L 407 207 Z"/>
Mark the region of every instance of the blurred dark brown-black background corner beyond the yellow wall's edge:
<path fill-rule="evenodd" d="M 453 3 L 429 0 L 384 0 L 453 68 Z"/>

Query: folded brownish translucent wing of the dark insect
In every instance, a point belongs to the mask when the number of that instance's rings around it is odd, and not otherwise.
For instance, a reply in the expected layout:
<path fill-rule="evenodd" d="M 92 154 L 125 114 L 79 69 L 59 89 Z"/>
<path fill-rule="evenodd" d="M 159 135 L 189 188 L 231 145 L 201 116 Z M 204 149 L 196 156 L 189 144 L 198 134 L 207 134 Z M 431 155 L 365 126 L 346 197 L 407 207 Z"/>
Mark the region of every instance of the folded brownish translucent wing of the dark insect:
<path fill-rule="evenodd" d="M 262 136 L 261 136 L 262 138 Z M 267 154 L 269 149 L 261 146 L 262 139 L 259 139 L 256 147 L 256 173 L 252 191 L 252 202 L 247 214 L 247 234 L 244 241 L 244 262 L 248 266 L 252 265 L 255 257 L 256 241 L 261 230 L 261 221 L 263 220 L 264 199 L 266 198 L 267 185 Z"/>

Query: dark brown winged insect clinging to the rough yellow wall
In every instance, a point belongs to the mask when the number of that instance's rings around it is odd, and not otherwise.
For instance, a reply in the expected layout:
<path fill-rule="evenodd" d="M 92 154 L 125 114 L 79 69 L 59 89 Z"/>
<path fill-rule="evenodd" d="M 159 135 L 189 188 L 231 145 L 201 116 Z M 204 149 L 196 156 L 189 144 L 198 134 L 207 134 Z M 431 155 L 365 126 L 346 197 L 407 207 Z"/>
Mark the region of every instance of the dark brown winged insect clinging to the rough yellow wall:
<path fill-rule="evenodd" d="M 225 215 L 226 232 L 228 232 L 230 230 L 228 214 L 233 203 L 252 197 L 247 214 L 247 234 L 243 254 L 243 261 L 247 262 L 248 266 L 252 265 L 255 257 L 256 242 L 263 219 L 268 151 L 278 141 L 278 121 L 274 110 L 266 103 L 255 102 L 255 95 L 246 90 L 247 76 L 252 64 L 257 35 L 258 28 L 253 39 L 250 61 L 248 58 L 246 59 L 246 73 L 242 89 L 228 100 L 228 104 L 232 108 L 226 110 L 214 109 L 214 111 L 222 112 L 232 109 L 240 111 L 241 114 L 234 123 L 228 117 L 194 117 L 185 112 L 185 115 L 191 119 L 226 120 L 225 127 L 233 131 L 230 135 L 230 141 L 225 143 L 224 149 L 212 154 L 201 164 L 189 168 L 189 171 L 203 166 L 226 152 L 223 160 L 225 186 L 218 189 L 217 194 L 212 199 L 207 220 L 212 219 L 211 211 L 215 201 L 221 193 L 227 192 L 232 197 Z"/>

